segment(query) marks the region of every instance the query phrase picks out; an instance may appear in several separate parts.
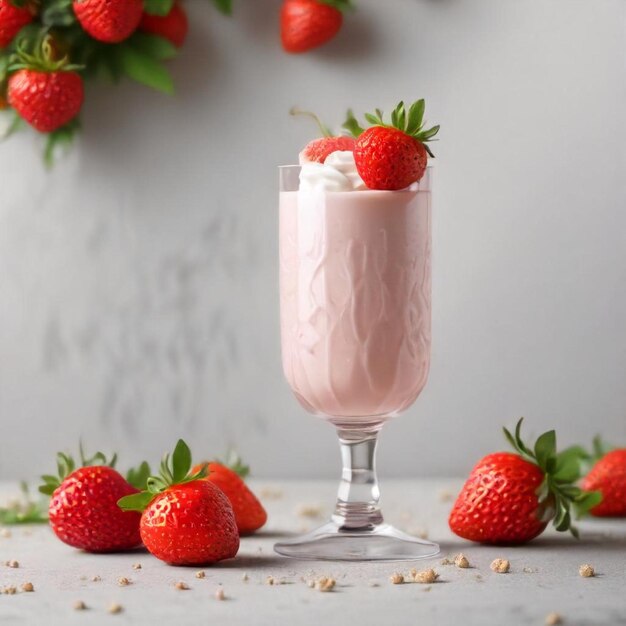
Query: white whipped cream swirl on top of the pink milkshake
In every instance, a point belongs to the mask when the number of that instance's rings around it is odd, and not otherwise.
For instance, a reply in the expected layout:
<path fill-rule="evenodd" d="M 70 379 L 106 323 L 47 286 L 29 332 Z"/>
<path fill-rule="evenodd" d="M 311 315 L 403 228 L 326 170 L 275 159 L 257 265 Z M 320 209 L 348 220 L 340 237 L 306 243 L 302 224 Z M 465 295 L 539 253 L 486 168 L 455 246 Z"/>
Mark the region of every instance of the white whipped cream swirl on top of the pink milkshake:
<path fill-rule="evenodd" d="M 302 163 L 301 191 L 359 191 L 366 189 L 349 150 L 331 152 L 324 163 Z"/>

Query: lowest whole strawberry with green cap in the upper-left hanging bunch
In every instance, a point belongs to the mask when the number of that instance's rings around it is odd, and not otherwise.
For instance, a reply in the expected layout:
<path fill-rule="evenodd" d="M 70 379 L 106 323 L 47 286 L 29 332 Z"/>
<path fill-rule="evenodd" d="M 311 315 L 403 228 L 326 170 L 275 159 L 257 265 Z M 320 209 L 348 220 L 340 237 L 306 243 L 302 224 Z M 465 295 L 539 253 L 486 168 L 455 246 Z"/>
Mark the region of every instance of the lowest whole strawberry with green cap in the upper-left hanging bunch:
<path fill-rule="evenodd" d="M 33 128 L 49 133 L 72 121 L 84 99 L 83 79 L 66 58 L 55 60 L 52 40 L 46 37 L 37 55 L 18 51 L 9 68 L 8 101 Z"/>

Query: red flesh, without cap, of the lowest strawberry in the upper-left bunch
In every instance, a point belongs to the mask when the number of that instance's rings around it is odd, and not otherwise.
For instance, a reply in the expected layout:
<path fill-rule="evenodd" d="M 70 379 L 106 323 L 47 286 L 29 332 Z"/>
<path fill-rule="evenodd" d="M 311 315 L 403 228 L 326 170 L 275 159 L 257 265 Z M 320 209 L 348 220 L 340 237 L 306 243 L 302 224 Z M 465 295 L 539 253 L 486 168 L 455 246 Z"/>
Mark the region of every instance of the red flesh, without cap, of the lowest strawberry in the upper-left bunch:
<path fill-rule="evenodd" d="M 20 117 L 48 133 L 78 115 L 84 99 L 83 79 L 64 69 L 21 69 L 9 78 L 8 96 Z"/>

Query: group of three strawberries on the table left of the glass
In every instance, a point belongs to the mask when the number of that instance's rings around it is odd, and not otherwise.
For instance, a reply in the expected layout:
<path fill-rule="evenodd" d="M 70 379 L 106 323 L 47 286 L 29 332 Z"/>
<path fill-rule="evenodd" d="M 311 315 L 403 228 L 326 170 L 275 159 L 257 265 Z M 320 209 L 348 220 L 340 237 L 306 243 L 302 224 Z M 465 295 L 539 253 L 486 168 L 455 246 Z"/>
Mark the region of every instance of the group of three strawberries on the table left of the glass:
<path fill-rule="evenodd" d="M 140 544 L 172 565 L 205 565 L 232 558 L 240 535 L 267 521 L 265 509 L 243 477 L 248 468 L 218 462 L 192 466 L 179 440 L 157 475 L 143 462 L 122 476 L 97 453 L 81 467 L 58 455 L 58 476 L 43 476 L 50 495 L 50 526 L 64 543 L 88 552 L 118 552 Z"/>

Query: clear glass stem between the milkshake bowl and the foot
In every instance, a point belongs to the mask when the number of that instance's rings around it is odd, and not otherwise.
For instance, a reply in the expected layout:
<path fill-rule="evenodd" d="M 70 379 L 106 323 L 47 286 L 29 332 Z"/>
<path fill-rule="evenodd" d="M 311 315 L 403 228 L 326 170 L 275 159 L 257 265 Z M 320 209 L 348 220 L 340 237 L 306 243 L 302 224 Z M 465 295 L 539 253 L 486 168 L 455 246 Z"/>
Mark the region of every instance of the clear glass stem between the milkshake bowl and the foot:
<path fill-rule="evenodd" d="M 371 530 L 383 521 L 376 476 L 376 444 L 381 427 L 337 428 L 343 470 L 332 519 L 342 530 Z"/>

